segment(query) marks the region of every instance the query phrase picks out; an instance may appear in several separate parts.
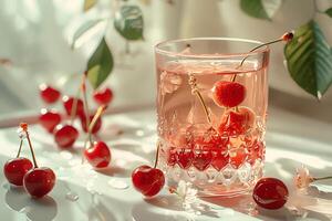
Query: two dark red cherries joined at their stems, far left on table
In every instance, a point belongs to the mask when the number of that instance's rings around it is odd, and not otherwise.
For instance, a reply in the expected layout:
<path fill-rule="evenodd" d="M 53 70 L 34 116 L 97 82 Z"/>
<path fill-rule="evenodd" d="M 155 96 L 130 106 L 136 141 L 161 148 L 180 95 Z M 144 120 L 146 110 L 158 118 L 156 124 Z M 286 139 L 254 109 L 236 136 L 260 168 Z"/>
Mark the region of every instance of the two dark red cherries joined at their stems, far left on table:
<path fill-rule="evenodd" d="M 55 185 L 55 173 L 51 168 L 38 167 L 35 156 L 28 131 L 28 124 L 21 124 L 21 130 L 27 137 L 32 154 L 33 164 L 30 159 L 20 157 L 23 140 L 15 158 L 10 159 L 3 167 L 7 180 L 14 186 L 23 186 L 27 192 L 33 198 L 42 198 L 48 194 Z M 23 139 L 23 138 L 21 138 Z"/>

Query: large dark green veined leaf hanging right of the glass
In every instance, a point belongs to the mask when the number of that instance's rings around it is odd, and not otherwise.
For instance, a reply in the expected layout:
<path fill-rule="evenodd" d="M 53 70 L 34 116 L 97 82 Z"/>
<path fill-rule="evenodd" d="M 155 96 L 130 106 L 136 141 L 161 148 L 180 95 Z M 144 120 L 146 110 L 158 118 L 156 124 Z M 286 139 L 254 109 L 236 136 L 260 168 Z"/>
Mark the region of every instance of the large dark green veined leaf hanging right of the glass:
<path fill-rule="evenodd" d="M 297 84 L 321 98 L 332 83 L 332 52 L 314 21 L 295 30 L 284 46 L 287 67 Z"/>

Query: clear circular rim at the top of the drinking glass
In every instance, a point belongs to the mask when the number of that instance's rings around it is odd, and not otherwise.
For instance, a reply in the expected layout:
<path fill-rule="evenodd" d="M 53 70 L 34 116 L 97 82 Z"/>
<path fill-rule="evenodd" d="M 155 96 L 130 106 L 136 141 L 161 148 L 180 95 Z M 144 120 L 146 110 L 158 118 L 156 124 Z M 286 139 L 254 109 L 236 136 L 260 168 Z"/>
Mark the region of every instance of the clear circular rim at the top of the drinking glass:
<path fill-rule="evenodd" d="M 242 56 L 250 56 L 250 55 L 257 55 L 264 52 L 269 52 L 270 48 L 269 45 L 264 45 L 258 50 L 255 50 L 252 52 L 237 52 L 237 53 L 220 53 L 220 54 L 184 54 L 181 52 L 172 52 L 168 50 L 160 49 L 163 45 L 166 45 L 168 43 L 179 43 L 179 42 L 186 42 L 186 41 L 230 41 L 230 42 L 241 42 L 241 43 L 252 43 L 252 44 L 263 44 L 263 42 L 257 41 L 257 40 L 250 40 L 250 39 L 241 39 L 241 38 L 224 38 L 224 36 L 203 36 L 203 38 L 187 38 L 187 39 L 176 39 L 176 40 L 166 40 L 157 43 L 155 48 L 155 52 L 158 54 L 164 54 L 168 56 L 176 56 L 176 57 L 187 57 L 187 59 L 226 59 L 226 57 L 242 57 Z"/>

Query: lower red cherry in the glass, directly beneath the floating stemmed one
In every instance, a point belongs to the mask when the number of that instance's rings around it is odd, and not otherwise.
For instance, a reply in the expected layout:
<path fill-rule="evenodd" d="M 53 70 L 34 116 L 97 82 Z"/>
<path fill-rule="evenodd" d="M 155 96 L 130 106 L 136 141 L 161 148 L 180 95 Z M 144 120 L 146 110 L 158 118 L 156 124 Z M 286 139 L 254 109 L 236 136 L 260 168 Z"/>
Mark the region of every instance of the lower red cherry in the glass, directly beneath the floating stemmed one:
<path fill-rule="evenodd" d="M 221 117 L 218 130 L 221 135 L 235 136 L 246 134 L 255 125 L 255 114 L 248 107 L 227 110 Z"/>

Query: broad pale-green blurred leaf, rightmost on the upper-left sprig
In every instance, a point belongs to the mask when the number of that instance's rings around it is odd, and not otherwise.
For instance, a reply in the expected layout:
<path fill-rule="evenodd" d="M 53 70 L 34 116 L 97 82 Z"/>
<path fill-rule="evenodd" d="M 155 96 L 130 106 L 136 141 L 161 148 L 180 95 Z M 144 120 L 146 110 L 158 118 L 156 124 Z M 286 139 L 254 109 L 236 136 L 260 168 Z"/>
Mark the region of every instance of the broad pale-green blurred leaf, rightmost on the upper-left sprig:
<path fill-rule="evenodd" d="M 142 10 L 136 6 L 123 6 L 115 13 L 115 30 L 126 40 L 143 39 Z"/>

